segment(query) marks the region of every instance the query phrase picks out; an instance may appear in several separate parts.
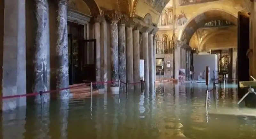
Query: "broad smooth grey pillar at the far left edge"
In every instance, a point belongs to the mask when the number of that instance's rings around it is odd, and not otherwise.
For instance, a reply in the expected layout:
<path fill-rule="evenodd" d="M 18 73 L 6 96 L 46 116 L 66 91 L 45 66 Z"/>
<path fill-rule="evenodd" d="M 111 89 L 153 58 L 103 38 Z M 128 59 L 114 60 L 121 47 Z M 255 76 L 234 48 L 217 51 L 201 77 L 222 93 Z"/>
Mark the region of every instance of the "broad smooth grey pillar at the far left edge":
<path fill-rule="evenodd" d="M 26 11 L 25 0 L 0 2 L 0 55 L 2 72 L 1 96 L 26 94 Z M 3 36 L 2 36 L 3 35 Z M 1 110 L 12 110 L 26 105 L 26 97 L 4 99 Z M 11 115 L 13 116 L 13 115 Z M 18 117 L 20 118 L 20 117 Z M 3 116 L 4 120 L 4 116 Z M 22 118 L 20 118 L 22 121 Z M 20 127 L 18 127 L 20 128 Z M 3 129 L 4 131 L 5 129 Z M 7 130 L 10 130 L 7 128 Z M 20 132 L 23 129 L 19 129 Z M 21 136 L 22 133 L 17 133 Z M 10 132 L 9 132 L 10 133 Z M 8 136 L 9 135 L 9 136 Z M 17 137 L 16 136 L 16 137 Z M 14 137 L 7 134 L 5 137 Z"/>

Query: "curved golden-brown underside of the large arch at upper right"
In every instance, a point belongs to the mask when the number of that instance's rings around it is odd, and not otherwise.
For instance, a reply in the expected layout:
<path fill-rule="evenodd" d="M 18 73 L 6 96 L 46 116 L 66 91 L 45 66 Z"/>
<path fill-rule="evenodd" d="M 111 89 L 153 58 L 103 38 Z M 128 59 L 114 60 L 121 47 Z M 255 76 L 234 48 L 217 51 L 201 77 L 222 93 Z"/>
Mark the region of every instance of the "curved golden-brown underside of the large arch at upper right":
<path fill-rule="evenodd" d="M 227 20 L 233 24 L 237 24 L 237 12 L 236 14 L 217 8 L 212 8 L 205 10 L 200 14 L 197 14 L 195 17 L 191 18 L 186 24 L 185 27 L 181 30 L 178 40 L 188 44 L 192 35 L 195 31 L 203 27 L 205 23 L 212 20 Z"/>

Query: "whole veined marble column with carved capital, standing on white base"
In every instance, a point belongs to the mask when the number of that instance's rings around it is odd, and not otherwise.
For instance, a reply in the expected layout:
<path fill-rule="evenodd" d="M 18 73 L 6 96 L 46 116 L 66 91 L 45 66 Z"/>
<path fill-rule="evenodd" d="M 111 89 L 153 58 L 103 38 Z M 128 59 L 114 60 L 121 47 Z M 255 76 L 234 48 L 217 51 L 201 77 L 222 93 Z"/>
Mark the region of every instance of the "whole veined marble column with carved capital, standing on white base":
<path fill-rule="evenodd" d="M 111 48 L 111 81 L 115 81 L 111 84 L 112 91 L 117 91 L 118 87 L 118 28 L 117 22 L 119 21 L 120 14 L 116 10 L 110 10 L 106 12 L 106 17 L 110 23 L 110 48 Z"/>

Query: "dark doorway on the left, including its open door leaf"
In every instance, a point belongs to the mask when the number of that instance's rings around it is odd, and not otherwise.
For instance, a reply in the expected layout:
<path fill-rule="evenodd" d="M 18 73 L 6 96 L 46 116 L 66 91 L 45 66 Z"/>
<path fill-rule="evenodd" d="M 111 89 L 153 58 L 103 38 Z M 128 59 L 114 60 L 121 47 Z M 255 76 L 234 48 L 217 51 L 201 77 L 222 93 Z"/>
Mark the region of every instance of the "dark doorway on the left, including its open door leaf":
<path fill-rule="evenodd" d="M 96 80 L 95 48 L 95 39 L 84 39 L 84 25 L 68 22 L 70 85 Z"/>

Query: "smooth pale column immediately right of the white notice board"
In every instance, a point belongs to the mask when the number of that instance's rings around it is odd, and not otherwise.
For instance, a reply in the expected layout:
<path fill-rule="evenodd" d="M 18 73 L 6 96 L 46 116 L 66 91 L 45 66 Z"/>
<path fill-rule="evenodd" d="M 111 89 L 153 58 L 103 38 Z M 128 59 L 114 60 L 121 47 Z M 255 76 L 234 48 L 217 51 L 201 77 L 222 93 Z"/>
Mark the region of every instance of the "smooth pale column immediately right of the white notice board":
<path fill-rule="evenodd" d="M 148 59 L 148 32 L 142 33 L 142 54 L 144 59 L 145 90 L 149 89 L 149 59 Z"/>

